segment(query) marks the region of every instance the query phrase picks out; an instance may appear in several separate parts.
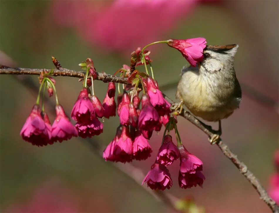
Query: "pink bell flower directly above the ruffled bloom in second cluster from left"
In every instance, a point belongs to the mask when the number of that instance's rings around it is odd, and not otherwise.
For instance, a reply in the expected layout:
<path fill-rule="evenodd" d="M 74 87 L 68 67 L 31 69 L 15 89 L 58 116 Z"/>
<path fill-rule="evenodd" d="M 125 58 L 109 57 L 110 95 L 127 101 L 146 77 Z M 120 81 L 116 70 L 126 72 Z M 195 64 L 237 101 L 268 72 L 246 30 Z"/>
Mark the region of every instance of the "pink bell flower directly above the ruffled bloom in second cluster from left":
<path fill-rule="evenodd" d="M 83 88 L 78 95 L 71 117 L 79 123 L 87 124 L 95 117 L 95 111 L 91 100 L 88 98 L 87 88 Z"/>

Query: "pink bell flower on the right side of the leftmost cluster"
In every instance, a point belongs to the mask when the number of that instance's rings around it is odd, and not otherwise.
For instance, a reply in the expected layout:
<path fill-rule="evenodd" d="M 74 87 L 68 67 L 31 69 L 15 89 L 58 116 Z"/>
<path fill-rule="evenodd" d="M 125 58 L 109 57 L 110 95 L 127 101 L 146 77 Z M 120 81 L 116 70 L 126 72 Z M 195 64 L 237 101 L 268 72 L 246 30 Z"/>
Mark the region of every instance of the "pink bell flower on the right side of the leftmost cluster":
<path fill-rule="evenodd" d="M 70 122 L 67 115 L 65 115 L 65 111 L 61 105 L 57 105 L 55 107 L 56 110 L 56 118 L 52 124 L 51 140 L 53 142 L 59 141 L 62 142 L 63 140 L 68 140 L 71 137 L 77 137 L 78 132 Z"/>

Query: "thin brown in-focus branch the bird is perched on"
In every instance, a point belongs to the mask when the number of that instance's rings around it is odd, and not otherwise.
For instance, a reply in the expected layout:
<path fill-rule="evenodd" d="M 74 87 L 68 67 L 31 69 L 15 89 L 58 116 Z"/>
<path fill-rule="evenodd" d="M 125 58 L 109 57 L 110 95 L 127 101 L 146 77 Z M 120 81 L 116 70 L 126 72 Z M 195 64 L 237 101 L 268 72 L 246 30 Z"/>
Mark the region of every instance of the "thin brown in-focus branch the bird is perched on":
<path fill-rule="evenodd" d="M 0 68 L 0 74 L 28 74 L 28 75 L 40 75 L 41 71 L 43 69 L 25 69 L 25 68 L 9 68 L 5 66 L 1 66 Z M 51 71 L 51 70 L 47 70 Z M 83 78 L 84 73 L 79 71 L 72 71 L 68 69 L 61 69 L 61 70 L 54 70 L 53 76 L 70 76 L 70 77 L 77 77 L 77 78 Z M 127 81 L 127 78 L 120 78 L 117 76 L 107 75 L 106 73 L 97 73 L 97 79 L 96 80 L 102 80 L 104 82 L 115 82 L 115 83 L 124 83 L 124 84 L 130 84 Z M 169 98 L 168 98 L 169 99 Z M 171 99 L 169 99 L 171 103 L 174 103 Z M 193 115 L 191 115 L 189 112 L 183 110 L 180 114 L 182 117 L 189 120 L 192 124 L 194 124 L 196 127 L 198 127 L 200 130 L 202 130 L 206 135 L 208 135 L 210 138 L 215 135 L 214 131 L 212 130 L 211 126 L 205 125 L 200 120 L 195 118 Z M 262 199 L 273 212 L 279 213 L 279 207 L 275 203 L 275 201 L 268 195 L 264 187 L 261 185 L 258 178 L 255 177 L 255 175 L 248 170 L 247 166 L 238 159 L 237 155 L 235 155 L 229 148 L 228 145 L 226 145 L 221 138 L 216 142 L 216 145 L 220 148 L 220 150 L 223 152 L 223 154 L 233 162 L 233 164 L 238 168 L 238 170 L 241 172 L 241 174 L 244 175 L 244 177 L 250 182 L 250 184 L 256 189 L 258 194 L 260 195 L 260 199 Z M 136 181 L 136 180 L 135 180 Z M 163 193 L 160 193 L 163 194 Z"/>

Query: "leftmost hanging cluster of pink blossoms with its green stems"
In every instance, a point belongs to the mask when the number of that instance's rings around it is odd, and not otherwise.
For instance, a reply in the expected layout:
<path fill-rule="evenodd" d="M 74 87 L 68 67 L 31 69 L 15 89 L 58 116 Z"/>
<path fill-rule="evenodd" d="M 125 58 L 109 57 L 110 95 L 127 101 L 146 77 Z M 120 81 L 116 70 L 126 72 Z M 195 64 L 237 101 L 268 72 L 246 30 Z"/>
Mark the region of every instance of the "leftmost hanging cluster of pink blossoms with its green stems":
<path fill-rule="evenodd" d="M 62 142 L 63 140 L 68 140 L 71 137 L 78 136 L 77 130 L 71 124 L 63 107 L 58 103 L 55 80 L 50 77 L 51 74 L 52 71 L 50 73 L 46 73 L 44 71 L 41 73 L 41 76 L 39 77 L 41 86 L 36 104 L 33 106 L 31 113 L 26 119 L 26 122 L 20 132 L 23 140 L 37 146 L 53 144 L 56 141 Z M 42 88 L 44 89 L 42 94 L 41 109 L 39 103 Z M 49 121 L 47 113 L 44 111 L 43 99 L 46 89 L 48 90 L 50 96 L 53 94 L 53 91 L 56 96 L 56 118 L 52 125 Z"/>

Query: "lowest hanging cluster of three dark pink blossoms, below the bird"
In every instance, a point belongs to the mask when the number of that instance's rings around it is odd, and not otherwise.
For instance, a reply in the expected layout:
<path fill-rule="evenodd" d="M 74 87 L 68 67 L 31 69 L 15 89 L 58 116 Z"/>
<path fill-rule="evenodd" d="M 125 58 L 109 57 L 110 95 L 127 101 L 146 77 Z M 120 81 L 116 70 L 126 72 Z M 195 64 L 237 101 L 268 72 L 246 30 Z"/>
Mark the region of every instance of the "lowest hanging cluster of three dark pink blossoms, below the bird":
<path fill-rule="evenodd" d="M 151 166 L 151 170 L 145 176 L 142 184 L 147 183 L 151 189 L 170 189 L 172 186 L 172 178 L 167 169 L 174 160 L 180 159 L 180 170 L 178 183 L 180 188 L 191 188 L 193 186 L 201 186 L 204 182 L 204 175 L 202 174 L 202 162 L 199 158 L 192 155 L 181 142 L 177 126 L 177 120 L 174 117 L 169 119 L 163 136 L 162 145 L 159 148 L 155 163 Z M 169 135 L 170 130 L 174 129 L 177 146 L 172 142 L 172 136 Z M 166 135 L 166 132 L 168 134 Z"/>

